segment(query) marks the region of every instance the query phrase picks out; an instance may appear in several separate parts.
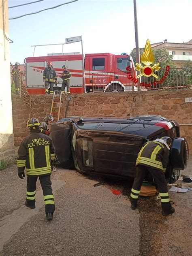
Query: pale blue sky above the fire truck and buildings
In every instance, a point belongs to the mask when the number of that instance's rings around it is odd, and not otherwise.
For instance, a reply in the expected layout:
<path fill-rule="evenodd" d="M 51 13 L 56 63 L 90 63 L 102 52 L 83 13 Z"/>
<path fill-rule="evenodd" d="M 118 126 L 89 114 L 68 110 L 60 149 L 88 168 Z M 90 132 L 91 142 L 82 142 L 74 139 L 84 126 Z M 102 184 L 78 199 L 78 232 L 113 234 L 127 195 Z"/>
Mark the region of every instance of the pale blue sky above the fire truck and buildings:
<path fill-rule="evenodd" d="M 9 0 L 10 6 L 35 0 Z M 9 9 L 9 18 L 33 13 L 71 0 L 44 0 Z M 192 39 L 192 0 L 137 0 L 139 47 L 167 39 Z M 81 36 L 83 53 L 130 53 L 135 47 L 133 0 L 78 0 L 55 9 L 9 20 L 10 60 L 24 64 L 33 56 L 31 45 L 65 43 Z M 64 45 L 64 52 L 80 52 L 81 42 Z M 62 45 L 36 47 L 34 56 L 62 53 Z"/>

